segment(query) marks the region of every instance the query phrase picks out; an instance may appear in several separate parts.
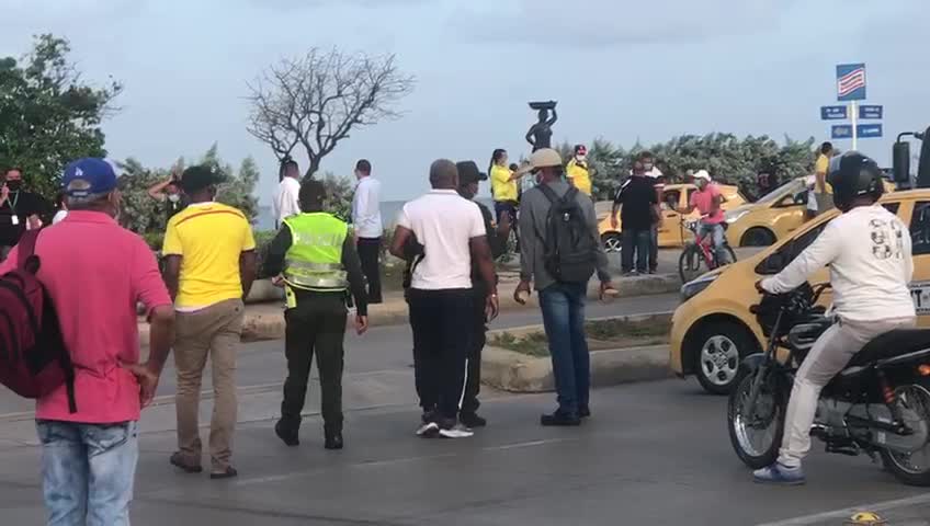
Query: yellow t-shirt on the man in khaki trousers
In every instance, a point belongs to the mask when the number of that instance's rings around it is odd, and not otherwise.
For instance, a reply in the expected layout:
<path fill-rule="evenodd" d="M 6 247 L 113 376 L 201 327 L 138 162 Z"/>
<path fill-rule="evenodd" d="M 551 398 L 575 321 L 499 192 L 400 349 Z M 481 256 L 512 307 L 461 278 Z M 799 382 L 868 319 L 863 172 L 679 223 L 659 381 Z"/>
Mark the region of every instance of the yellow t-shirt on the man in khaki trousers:
<path fill-rule="evenodd" d="M 168 221 L 163 255 L 181 256 L 174 306 L 199 309 L 242 297 L 239 256 L 256 250 L 246 216 L 219 203 L 195 203 Z"/>

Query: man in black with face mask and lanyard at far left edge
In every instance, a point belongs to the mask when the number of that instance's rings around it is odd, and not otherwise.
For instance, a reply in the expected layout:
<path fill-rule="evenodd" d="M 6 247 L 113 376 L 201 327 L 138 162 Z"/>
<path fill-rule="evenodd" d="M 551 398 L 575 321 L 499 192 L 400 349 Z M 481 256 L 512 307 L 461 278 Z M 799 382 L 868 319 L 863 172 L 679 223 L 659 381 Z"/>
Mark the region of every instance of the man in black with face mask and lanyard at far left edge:
<path fill-rule="evenodd" d="M 0 182 L 0 261 L 20 242 L 26 230 L 42 228 L 41 216 L 49 211 L 38 194 L 23 190 L 23 172 L 11 168 Z"/>

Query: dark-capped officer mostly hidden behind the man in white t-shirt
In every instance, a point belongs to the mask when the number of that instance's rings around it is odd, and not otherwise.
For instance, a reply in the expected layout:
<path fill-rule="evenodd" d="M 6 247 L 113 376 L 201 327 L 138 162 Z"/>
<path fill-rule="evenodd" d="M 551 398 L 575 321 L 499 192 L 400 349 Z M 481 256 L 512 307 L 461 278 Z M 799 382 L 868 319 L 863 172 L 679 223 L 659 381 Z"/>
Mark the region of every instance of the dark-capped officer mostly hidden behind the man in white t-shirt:
<path fill-rule="evenodd" d="M 478 193 L 478 183 L 487 181 L 488 176 L 478 171 L 478 165 L 474 161 L 463 161 L 455 164 L 458 169 L 458 194 L 468 201 L 473 201 Z M 488 233 L 488 244 L 491 247 L 491 256 L 496 260 L 503 255 L 507 249 L 507 235 L 510 230 L 510 216 L 501 215 L 501 225 L 496 230 L 494 227 L 494 216 L 487 206 L 475 202 L 481 210 L 481 217 L 485 219 L 485 230 Z M 478 416 L 478 392 L 481 387 L 481 350 L 485 347 L 486 336 L 488 331 L 488 318 L 485 312 L 485 298 L 488 296 L 488 284 L 481 279 L 481 273 L 473 265 L 472 267 L 472 284 L 475 293 L 475 310 L 473 318 L 466 325 L 472 331 L 472 348 L 468 352 L 468 377 L 465 380 L 465 396 L 462 399 L 460 408 L 458 421 L 466 427 L 484 427 L 487 421 Z"/>

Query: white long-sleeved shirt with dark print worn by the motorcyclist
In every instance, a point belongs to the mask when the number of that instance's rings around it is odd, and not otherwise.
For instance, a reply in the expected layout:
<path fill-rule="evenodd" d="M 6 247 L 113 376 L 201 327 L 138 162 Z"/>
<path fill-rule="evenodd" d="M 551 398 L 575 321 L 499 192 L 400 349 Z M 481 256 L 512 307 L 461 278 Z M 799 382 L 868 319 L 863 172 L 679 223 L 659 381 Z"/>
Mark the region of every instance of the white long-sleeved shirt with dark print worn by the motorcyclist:
<path fill-rule="evenodd" d="M 762 288 L 781 294 L 830 265 L 833 311 L 849 321 L 915 316 L 908 285 L 914 277 L 910 232 L 881 205 L 837 217 L 816 240 Z"/>

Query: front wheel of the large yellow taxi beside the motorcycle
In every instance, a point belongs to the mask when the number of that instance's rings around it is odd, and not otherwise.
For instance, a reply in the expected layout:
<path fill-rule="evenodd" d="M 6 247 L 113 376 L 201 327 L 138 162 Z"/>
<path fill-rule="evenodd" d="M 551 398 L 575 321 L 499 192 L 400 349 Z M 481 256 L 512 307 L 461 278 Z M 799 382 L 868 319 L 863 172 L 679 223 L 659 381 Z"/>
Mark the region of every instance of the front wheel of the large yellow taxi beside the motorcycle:
<path fill-rule="evenodd" d="M 758 344 L 742 325 L 731 321 L 710 324 L 695 339 L 695 375 L 712 395 L 728 395 L 739 378 L 739 364 Z"/>

